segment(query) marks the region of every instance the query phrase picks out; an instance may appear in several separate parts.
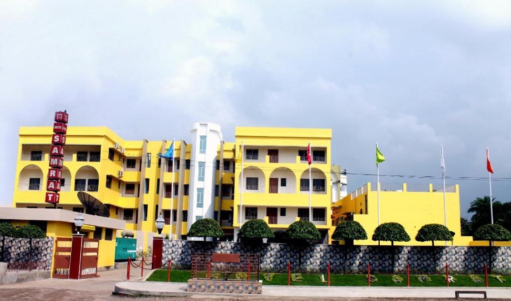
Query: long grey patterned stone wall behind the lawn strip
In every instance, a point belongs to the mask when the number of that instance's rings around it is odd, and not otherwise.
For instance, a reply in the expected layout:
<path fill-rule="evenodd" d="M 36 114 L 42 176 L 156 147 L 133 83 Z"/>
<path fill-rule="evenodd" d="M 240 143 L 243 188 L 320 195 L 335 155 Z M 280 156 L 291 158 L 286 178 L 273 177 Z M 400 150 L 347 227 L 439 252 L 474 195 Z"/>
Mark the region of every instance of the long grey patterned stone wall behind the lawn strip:
<path fill-rule="evenodd" d="M 448 262 L 453 273 L 481 273 L 484 263 L 493 272 L 511 273 L 511 247 L 392 247 L 164 240 L 162 263 L 165 265 L 170 258 L 174 266 L 189 269 L 192 253 L 257 253 L 261 256 L 263 271 L 286 271 L 288 262 L 295 271 L 299 269 L 301 261 L 301 270 L 311 272 L 326 271 L 330 262 L 335 273 L 361 273 L 366 271 L 367 263 L 371 264 L 371 270 L 375 273 L 404 272 L 407 263 L 414 273 L 434 273 L 442 270 Z"/>

